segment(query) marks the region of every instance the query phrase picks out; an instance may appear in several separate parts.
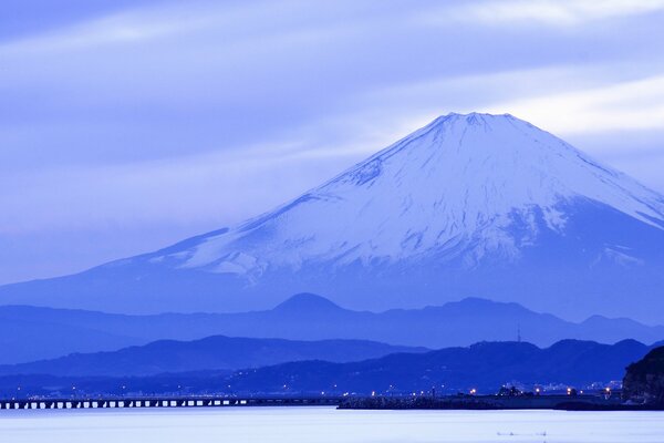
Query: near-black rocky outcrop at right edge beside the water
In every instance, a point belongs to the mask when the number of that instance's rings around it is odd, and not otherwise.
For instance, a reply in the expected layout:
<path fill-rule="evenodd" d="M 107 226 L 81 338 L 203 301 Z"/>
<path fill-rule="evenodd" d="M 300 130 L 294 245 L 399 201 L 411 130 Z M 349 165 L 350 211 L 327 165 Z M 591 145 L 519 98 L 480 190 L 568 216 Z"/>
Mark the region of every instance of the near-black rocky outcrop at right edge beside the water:
<path fill-rule="evenodd" d="M 664 406 L 664 347 L 653 349 L 642 360 L 627 367 L 623 399 Z"/>

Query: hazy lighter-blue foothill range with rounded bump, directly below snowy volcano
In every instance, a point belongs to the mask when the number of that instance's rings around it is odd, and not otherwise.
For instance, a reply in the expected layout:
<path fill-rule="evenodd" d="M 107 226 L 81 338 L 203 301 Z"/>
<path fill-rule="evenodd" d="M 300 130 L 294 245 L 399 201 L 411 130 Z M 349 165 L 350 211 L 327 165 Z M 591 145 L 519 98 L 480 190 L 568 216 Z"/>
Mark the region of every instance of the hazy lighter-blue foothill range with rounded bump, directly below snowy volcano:
<path fill-rule="evenodd" d="M 518 303 L 478 298 L 423 309 L 353 311 L 300 293 L 266 311 L 126 316 L 83 310 L 0 307 L 0 364 L 52 359 L 72 352 L 118 350 L 152 341 L 209 336 L 289 340 L 372 340 L 432 349 L 517 339 L 537 346 L 573 338 L 614 343 L 664 339 L 664 327 L 594 316 L 583 322 L 533 312 Z"/>

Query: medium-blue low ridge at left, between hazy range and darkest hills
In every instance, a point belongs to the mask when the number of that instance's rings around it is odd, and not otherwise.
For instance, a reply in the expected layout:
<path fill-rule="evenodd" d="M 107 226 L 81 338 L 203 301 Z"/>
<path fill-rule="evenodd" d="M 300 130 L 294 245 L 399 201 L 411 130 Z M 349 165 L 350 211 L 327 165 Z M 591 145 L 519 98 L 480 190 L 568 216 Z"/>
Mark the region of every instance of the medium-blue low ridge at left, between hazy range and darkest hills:
<path fill-rule="evenodd" d="M 159 340 L 114 352 L 74 353 L 52 360 L 0 365 L 0 374 L 137 377 L 258 368 L 300 360 L 347 362 L 395 352 L 424 351 L 427 349 L 366 340 L 292 341 L 214 336 L 195 341 Z"/>

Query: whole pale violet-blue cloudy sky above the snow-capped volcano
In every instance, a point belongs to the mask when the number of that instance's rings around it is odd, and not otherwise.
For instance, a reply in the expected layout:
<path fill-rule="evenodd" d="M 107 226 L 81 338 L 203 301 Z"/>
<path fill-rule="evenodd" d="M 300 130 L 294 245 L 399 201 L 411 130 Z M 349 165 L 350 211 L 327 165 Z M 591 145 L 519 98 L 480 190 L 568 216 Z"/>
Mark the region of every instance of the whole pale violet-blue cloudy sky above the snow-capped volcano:
<path fill-rule="evenodd" d="M 0 284 L 269 209 L 448 112 L 664 192 L 664 0 L 4 0 Z"/>

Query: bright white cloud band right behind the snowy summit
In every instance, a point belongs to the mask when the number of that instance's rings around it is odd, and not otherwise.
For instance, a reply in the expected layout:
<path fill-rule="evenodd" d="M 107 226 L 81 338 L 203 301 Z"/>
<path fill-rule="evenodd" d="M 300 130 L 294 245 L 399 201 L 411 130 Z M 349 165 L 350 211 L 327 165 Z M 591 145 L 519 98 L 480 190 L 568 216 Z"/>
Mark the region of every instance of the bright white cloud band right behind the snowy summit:
<path fill-rule="evenodd" d="M 561 64 L 393 84 L 355 97 L 354 112 L 328 119 L 326 132 L 388 143 L 438 115 L 474 111 L 510 113 L 561 136 L 664 128 L 664 76 L 634 75 L 624 63 Z"/>

